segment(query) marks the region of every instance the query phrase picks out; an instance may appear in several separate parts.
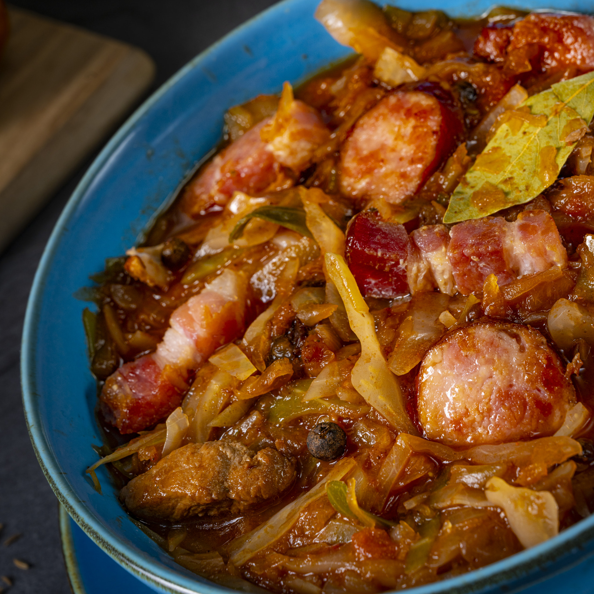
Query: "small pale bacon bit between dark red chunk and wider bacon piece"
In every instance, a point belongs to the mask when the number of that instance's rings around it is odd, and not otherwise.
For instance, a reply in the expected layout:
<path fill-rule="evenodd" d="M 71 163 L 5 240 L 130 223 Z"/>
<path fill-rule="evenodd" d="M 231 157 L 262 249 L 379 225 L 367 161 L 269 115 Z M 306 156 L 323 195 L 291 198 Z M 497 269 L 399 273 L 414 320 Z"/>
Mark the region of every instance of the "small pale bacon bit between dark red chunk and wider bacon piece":
<path fill-rule="evenodd" d="M 443 225 L 427 225 L 410 233 L 406 274 L 410 292 L 434 290 L 454 295 L 456 283 L 447 258 L 450 234 Z"/>

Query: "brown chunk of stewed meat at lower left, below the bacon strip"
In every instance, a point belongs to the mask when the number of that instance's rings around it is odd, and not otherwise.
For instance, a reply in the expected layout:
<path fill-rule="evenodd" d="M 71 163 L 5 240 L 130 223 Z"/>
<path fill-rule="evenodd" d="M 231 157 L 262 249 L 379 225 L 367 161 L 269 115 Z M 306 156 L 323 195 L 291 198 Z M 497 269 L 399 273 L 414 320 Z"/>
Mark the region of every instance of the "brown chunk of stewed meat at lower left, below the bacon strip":
<path fill-rule="evenodd" d="M 178 522 L 244 511 L 274 500 L 293 483 L 295 460 L 267 447 L 207 441 L 173 450 L 132 479 L 120 498 L 135 516 Z"/>

